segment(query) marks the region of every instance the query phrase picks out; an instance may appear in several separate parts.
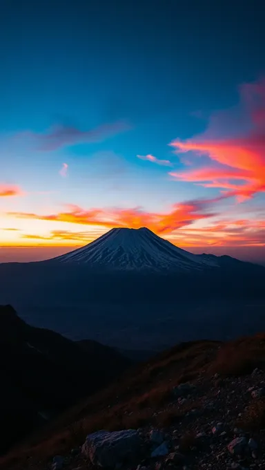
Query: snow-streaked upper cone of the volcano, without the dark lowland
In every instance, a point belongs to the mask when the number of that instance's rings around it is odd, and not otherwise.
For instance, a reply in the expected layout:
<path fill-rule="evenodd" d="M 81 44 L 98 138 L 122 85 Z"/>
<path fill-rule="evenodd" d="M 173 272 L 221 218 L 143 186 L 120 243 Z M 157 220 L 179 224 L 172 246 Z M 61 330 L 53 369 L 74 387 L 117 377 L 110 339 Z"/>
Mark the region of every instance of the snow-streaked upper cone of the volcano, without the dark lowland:
<path fill-rule="evenodd" d="M 126 271 L 187 271 L 218 267 L 215 256 L 208 258 L 181 250 L 146 227 L 111 229 L 92 243 L 51 261 Z"/>

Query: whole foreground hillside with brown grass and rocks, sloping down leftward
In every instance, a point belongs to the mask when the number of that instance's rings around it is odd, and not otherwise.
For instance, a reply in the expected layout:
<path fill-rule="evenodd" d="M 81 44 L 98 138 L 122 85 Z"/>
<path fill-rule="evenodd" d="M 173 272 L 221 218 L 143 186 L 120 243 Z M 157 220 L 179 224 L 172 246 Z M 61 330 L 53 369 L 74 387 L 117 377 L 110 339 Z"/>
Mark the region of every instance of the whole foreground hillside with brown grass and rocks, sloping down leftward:
<path fill-rule="evenodd" d="M 90 435 L 102 429 L 110 432 Z M 264 469 L 265 335 L 179 344 L 72 408 L 1 466 Z"/>

